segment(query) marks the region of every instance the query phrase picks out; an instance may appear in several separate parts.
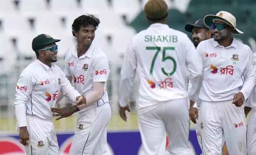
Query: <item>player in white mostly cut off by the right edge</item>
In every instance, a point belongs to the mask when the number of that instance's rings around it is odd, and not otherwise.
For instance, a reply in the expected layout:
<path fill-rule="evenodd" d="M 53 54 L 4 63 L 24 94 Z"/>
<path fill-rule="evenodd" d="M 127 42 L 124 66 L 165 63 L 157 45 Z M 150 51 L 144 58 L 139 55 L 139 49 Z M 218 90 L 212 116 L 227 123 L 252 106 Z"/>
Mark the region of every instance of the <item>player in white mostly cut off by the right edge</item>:
<path fill-rule="evenodd" d="M 256 67 L 256 53 L 254 55 L 254 67 Z M 247 117 L 251 112 L 247 124 L 247 153 L 248 155 L 256 155 L 256 87 L 250 93 L 248 100 L 245 103 L 244 114 Z"/>

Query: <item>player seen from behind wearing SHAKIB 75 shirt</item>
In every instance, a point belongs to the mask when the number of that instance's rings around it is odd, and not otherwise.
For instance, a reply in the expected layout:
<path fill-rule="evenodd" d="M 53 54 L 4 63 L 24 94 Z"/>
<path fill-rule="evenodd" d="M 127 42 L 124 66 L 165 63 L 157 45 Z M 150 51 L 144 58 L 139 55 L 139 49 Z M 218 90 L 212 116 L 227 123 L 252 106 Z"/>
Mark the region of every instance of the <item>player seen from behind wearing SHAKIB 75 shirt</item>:
<path fill-rule="evenodd" d="M 164 0 L 149 0 L 145 4 L 144 12 L 151 25 L 133 37 L 121 70 L 119 112 L 125 121 L 138 70 L 137 110 L 145 155 L 164 155 L 166 133 L 171 155 L 189 154 L 188 110 L 198 98 L 202 83 L 202 64 L 198 63 L 195 47 L 186 34 L 166 25 L 167 10 Z M 191 73 L 189 95 L 186 67 Z"/>

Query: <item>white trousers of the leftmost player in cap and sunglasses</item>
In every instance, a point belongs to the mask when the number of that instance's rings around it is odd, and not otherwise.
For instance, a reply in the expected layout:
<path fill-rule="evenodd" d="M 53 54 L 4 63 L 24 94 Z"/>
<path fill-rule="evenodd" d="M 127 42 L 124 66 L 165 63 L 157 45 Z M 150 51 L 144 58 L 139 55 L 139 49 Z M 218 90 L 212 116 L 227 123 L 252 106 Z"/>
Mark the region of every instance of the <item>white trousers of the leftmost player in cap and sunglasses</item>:
<path fill-rule="evenodd" d="M 25 146 L 27 155 L 59 155 L 55 125 L 52 120 L 26 115 L 29 132 L 29 146 Z"/>

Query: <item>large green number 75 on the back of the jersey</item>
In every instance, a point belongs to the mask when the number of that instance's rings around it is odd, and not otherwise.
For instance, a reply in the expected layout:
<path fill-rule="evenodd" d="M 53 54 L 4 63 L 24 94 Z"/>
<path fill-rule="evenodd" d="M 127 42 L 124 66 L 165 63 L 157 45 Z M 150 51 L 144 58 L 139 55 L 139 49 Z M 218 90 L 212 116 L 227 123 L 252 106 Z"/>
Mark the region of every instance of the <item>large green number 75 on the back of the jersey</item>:
<path fill-rule="evenodd" d="M 146 47 L 146 50 L 157 50 L 157 52 L 155 53 L 155 56 L 153 57 L 153 60 L 151 62 L 151 67 L 150 67 L 150 75 L 152 76 L 153 75 L 153 68 L 154 68 L 154 65 L 155 65 L 155 60 L 157 59 L 157 55 L 161 51 L 161 47 Z M 162 62 L 164 62 L 165 60 L 168 60 L 168 59 L 172 60 L 173 61 L 173 71 L 171 73 L 167 73 L 167 72 L 165 72 L 164 68 L 161 68 L 161 70 L 162 70 L 163 74 L 165 74 L 166 76 L 172 76 L 176 71 L 177 64 L 176 64 L 176 61 L 173 57 L 170 57 L 170 56 L 166 57 L 165 56 L 166 50 L 175 50 L 175 47 L 163 47 Z"/>

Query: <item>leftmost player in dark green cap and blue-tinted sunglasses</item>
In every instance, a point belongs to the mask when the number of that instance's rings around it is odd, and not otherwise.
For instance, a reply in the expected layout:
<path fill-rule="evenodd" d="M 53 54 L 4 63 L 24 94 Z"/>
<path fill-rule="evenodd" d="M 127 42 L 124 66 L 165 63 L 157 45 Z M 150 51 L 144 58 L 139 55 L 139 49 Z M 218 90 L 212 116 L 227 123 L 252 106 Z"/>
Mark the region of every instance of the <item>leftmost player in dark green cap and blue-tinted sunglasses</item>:
<path fill-rule="evenodd" d="M 27 155 L 59 154 L 50 108 L 55 106 L 60 91 L 73 103 L 81 96 L 60 67 L 52 63 L 57 61 L 59 41 L 47 34 L 35 37 L 32 49 L 37 59 L 23 70 L 17 82 L 17 127 Z M 85 103 L 85 98 L 82 102 Z"/>

